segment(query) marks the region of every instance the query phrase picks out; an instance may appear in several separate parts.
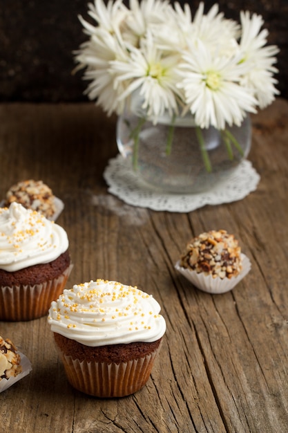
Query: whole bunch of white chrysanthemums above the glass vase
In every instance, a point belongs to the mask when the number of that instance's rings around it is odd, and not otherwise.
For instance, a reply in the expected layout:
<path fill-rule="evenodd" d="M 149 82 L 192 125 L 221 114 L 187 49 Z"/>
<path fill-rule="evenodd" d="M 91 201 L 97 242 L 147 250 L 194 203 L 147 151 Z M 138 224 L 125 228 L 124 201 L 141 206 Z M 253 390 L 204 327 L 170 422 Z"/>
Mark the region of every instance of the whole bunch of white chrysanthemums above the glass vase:
<path fill-rule="evenodd" d="M 240 125 L 247 113 L 266 107 L 278 94 L 276 46 L 258 15 L 241 12 L 240 24 L 215 4 L 192 15 L 168 0 L 95 0 L 79 17 L 88 41 L 75 52 L 85 68 L 90 100 L 120 114 L 137 93 L 153 122 L 184 107 L 200 127 Z"/>

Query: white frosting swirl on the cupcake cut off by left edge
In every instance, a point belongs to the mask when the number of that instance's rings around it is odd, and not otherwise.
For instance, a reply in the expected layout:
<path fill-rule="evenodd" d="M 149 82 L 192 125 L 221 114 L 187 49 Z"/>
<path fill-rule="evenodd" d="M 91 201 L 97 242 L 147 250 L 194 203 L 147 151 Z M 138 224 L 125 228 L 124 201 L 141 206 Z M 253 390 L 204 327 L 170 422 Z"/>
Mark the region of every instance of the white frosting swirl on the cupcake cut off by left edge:
<path fill-rule="evenodd" d="M 14 272 L 48 263 L 68 249 L 64 228 L 34 210 L 12 203 L 0 208 L 0 269 Z"/>

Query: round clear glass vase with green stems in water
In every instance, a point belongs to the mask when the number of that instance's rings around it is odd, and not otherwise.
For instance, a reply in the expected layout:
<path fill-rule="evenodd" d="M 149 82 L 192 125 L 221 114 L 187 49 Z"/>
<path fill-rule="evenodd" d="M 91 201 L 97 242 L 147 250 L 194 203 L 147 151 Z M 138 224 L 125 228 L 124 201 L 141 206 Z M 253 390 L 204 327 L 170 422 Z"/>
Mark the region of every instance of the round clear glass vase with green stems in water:
<path fill-rule="evenodd" d="M 141 113 L 140 113 L 141 114 Z M 197 194 L 226 180 L 249 154 L 251 121 L 220 131 L 200 129 L 191 114 L 153 124 L 125 111 L 117 120 L 117 147 L 146 183 L 163 192 Z"/>

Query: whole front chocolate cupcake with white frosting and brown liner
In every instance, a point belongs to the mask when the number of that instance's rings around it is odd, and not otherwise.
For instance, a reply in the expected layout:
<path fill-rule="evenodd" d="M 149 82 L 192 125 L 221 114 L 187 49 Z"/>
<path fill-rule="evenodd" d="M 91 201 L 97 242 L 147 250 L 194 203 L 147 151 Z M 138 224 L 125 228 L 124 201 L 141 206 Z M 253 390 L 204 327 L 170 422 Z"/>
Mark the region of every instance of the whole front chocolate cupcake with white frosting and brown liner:
<path fill-rule="evenodd" d="M 103 279 L 64 290 L 48 323 L 70 384 L 105 398 L 146 384 L 166 331 L 152 295 Z"/>

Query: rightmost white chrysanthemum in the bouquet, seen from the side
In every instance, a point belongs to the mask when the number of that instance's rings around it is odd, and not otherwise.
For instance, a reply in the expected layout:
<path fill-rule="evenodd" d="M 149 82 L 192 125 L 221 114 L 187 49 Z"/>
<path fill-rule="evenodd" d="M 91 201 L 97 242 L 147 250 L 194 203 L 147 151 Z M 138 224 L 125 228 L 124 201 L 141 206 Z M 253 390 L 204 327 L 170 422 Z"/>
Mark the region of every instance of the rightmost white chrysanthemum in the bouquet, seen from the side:
<path fill-rule="evenodd" d="M 242 77 L 241 84 L 251 91 L 258 100 L 260 108 L 267 107 L 279 92 L 274 86 L 277 80 L 273 73 L 278 70 L 273 66 L 276 63 L 276 46 L 265 46 L 267 43 L 267 30 L 260 31 L 263 20 L 260 15 L 241 12 L 242 36 L 240 50 L 242 62 L 247 64 L 247 73 Z"/>

